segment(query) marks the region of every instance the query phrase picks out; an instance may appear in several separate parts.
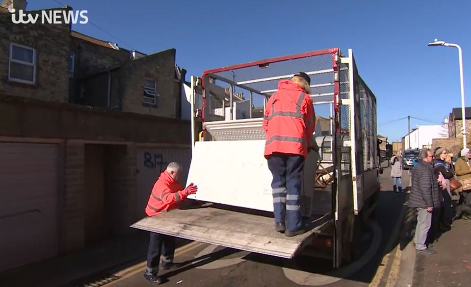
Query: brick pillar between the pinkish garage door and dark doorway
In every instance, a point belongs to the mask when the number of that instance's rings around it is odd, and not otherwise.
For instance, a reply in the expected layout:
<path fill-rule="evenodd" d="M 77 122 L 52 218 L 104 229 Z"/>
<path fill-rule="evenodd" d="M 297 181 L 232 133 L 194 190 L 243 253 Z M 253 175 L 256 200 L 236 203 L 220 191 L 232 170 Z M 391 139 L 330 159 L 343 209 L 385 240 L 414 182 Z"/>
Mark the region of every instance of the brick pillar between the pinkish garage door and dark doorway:
<path fill-rule="evenodd" d="M 76 250 L 84 246 L 84 156 L 83 143 L 66 141 L 61 252 Z"/>

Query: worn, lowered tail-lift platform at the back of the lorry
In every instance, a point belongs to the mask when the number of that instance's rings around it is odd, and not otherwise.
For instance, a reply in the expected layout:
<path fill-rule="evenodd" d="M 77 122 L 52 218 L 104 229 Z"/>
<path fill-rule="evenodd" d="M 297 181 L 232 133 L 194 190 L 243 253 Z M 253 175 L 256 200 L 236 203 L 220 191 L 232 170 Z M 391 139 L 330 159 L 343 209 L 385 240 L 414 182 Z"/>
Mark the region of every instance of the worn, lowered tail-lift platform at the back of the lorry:
<path fill-rule="evenodd" d="M 275 231 L 273 218 L 209 206 L 171 210 L 143 218 L 131 227 L 289 259 L 330 219 L 330 215 L 318 216 L 312 219 L 310 231 L 287 237 Z"/>

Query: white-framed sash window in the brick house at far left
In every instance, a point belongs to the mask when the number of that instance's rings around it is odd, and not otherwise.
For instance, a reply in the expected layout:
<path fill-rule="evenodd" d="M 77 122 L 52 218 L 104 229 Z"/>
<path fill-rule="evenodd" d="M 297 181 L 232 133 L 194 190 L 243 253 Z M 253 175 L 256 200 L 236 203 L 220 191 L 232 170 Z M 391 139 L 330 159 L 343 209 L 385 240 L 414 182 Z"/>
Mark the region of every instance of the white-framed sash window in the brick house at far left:
<path fill-rule="evenodd" d="M 36 50 L 19 44 L 10 44 L 8 80 L 36 83 Z"/>

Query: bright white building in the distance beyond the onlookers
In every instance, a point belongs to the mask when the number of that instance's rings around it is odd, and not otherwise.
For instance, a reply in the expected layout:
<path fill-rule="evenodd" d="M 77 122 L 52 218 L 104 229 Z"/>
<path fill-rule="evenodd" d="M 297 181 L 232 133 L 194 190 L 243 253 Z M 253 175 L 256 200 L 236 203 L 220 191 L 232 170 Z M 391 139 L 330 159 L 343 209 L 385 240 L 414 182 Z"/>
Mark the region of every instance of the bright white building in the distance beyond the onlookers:
<path fill-rule="evenodd" d="M 411 141 L 410 145 L 409 138 Z M 405 150 L 409 148 L 431 148 L 432 139 L 438 138 L 448 138 L 448 129 L 445 125 L 418 125 L 417 128 L 411 131 L 410 135 L 407 134 L 402 138 L 403 148 Z"/>

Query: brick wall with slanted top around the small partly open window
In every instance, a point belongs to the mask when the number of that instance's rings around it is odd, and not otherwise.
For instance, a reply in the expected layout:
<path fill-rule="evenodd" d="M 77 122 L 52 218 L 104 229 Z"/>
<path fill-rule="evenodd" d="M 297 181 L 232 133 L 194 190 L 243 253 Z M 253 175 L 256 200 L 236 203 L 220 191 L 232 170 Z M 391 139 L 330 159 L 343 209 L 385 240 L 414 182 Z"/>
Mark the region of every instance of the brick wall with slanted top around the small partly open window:
<path fill-rule="evenodd" d="M 177 117 L 177 99 L 179 91 L 175 91 L 175 49 L 140 58 L 124 65 L 122 81 L 123 111 L 161 116 Z M 160 96 L 157 105 L 143 104 L 144 78 L 156 80 L 156 90 Z"/>

